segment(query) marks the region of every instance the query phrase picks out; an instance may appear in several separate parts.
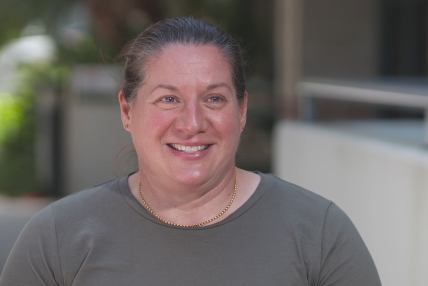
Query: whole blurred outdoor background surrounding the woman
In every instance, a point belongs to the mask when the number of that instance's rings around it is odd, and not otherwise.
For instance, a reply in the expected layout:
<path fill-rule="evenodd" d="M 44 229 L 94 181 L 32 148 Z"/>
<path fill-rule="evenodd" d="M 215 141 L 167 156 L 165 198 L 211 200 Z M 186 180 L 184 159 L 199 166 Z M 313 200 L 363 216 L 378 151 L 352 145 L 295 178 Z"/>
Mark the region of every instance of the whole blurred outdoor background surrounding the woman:
<path fill-rule="evenodd" d="M 246 51 L 237 165 L 335 201 L 384 285 L 428 285 L 427 0 L 1 0 L 0 269 L 35 211 L 136 169 L 116 56 L 191 15 Z"/>

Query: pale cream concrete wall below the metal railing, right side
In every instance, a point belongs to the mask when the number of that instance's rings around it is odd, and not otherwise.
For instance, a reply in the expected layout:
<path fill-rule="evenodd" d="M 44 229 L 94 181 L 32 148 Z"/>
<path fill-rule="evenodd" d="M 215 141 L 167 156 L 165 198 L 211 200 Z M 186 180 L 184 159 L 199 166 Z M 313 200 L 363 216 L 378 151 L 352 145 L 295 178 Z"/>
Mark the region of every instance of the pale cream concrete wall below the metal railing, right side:
<path fill-rule="evenodd" d="M 372 129 L 374 123 L 364 124 Z M 423 133 L 423 124 L 416 124 L 413 130 Z M 426 286 L 428 150 L 409 138 L 375 137 L 363 129 L 279 122 L 274 173 L 344 209 L 366 242 L 383 285 Z"/>

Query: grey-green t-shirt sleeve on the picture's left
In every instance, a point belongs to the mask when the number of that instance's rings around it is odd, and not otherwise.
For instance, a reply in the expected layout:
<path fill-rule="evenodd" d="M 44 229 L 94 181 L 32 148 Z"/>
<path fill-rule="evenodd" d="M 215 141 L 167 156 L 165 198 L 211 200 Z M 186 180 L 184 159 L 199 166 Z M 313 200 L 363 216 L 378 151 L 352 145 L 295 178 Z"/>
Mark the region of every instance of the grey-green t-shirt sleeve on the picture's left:
<path fill-rule="evenodd" d="M 62 285 L 52 206 L 25 225 L 0 277 L 0 286 Z"/>

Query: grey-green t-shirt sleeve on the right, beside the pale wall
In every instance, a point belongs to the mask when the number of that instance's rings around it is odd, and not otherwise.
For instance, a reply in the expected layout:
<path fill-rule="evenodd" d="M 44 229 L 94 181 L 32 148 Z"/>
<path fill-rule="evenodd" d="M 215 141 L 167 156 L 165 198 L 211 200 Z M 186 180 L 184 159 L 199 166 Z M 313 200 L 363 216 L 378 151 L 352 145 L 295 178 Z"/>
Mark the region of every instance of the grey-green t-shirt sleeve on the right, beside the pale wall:
<path fill-rule="evenodd" d="M 325 215 L 317 285 L 381 285 L 373 259 L 356 227 L 334 203 Z"/>

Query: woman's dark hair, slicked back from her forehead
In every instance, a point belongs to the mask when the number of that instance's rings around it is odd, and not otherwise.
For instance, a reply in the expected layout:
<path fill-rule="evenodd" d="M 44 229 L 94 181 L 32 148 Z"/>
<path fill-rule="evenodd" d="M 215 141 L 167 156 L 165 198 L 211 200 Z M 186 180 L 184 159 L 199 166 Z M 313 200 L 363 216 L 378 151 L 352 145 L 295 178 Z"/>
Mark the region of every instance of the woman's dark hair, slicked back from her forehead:
<path fill-rule="evenodd" d="M 144 30 L 122 51 L 125 59 L 123 94 L 132 103 L 137 91 L 147 78 L 150 62 L 166 46 L 171 44 L 213 45 L 220 49 L 229 62 L 233 84 L 239 103 L 245 93 L 243 51 L 239 44 L 226 32 L 213 24 L 194 18 L 172 18 L 161 20 Z"/>

